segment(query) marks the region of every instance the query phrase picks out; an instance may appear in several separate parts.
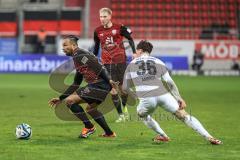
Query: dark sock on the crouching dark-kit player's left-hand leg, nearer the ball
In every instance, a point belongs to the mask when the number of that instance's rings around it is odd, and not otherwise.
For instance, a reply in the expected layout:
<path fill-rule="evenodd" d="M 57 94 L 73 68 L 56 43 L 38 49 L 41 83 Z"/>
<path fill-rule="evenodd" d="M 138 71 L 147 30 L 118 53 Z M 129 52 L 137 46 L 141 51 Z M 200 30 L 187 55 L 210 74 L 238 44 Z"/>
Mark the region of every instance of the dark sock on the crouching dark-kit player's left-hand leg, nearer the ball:
<path fill-rule="evenodd" d="M 69 106 L 69 108 L 74 113 L 74 115 L 83 122 L 83 124 L 85 125 L 85 128 L 92 128 L 94 126 L 92 122 L 88 119 L 82 106 L 78 104 L 72 104 L 71 106 Z"/>

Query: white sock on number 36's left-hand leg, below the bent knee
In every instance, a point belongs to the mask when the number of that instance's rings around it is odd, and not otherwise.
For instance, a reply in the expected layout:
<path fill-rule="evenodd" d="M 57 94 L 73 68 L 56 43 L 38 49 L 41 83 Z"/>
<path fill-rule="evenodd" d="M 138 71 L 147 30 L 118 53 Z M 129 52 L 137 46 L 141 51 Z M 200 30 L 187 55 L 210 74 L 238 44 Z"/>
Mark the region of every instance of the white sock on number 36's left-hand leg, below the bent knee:
<path fill-rule="evenodd" d="M 146 118 L 143 120 L 144 124 L 149 127 L 150 129 L 154 130 L 158 134 L 164 137 L 168 137 L 166 133 L 162 130 L 160 125 L 155 121 L 150 115 L 148 115 Z"/>

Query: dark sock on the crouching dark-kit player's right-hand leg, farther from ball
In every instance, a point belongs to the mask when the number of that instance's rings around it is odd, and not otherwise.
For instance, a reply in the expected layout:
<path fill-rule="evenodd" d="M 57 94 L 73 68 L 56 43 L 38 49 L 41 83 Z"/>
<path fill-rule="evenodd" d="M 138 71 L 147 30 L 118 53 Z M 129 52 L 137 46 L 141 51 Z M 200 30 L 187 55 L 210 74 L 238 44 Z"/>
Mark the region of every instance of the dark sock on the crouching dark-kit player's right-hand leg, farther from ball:
<path fill-rule="evenodd" d="M 88 111 L 88 114 L 102 127 L 107 135 L 113 134 L 112 130 L 109 128 L 103 114 L 97 109 L 93 108 Z"/>

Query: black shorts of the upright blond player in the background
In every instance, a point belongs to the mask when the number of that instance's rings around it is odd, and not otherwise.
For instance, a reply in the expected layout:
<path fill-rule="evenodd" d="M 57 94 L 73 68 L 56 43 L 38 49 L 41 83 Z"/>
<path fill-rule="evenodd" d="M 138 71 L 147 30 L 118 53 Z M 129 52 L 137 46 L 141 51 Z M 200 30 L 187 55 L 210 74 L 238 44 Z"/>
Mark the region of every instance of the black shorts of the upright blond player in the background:
<path fill-rule="evenodd" d="M 124 73 L 127 68 L 126 63 L 117 63 L 117 64 L 104 64 L 108 73 L 111 76 L 111 79 L 114 81 L 123 83 Z"/>

